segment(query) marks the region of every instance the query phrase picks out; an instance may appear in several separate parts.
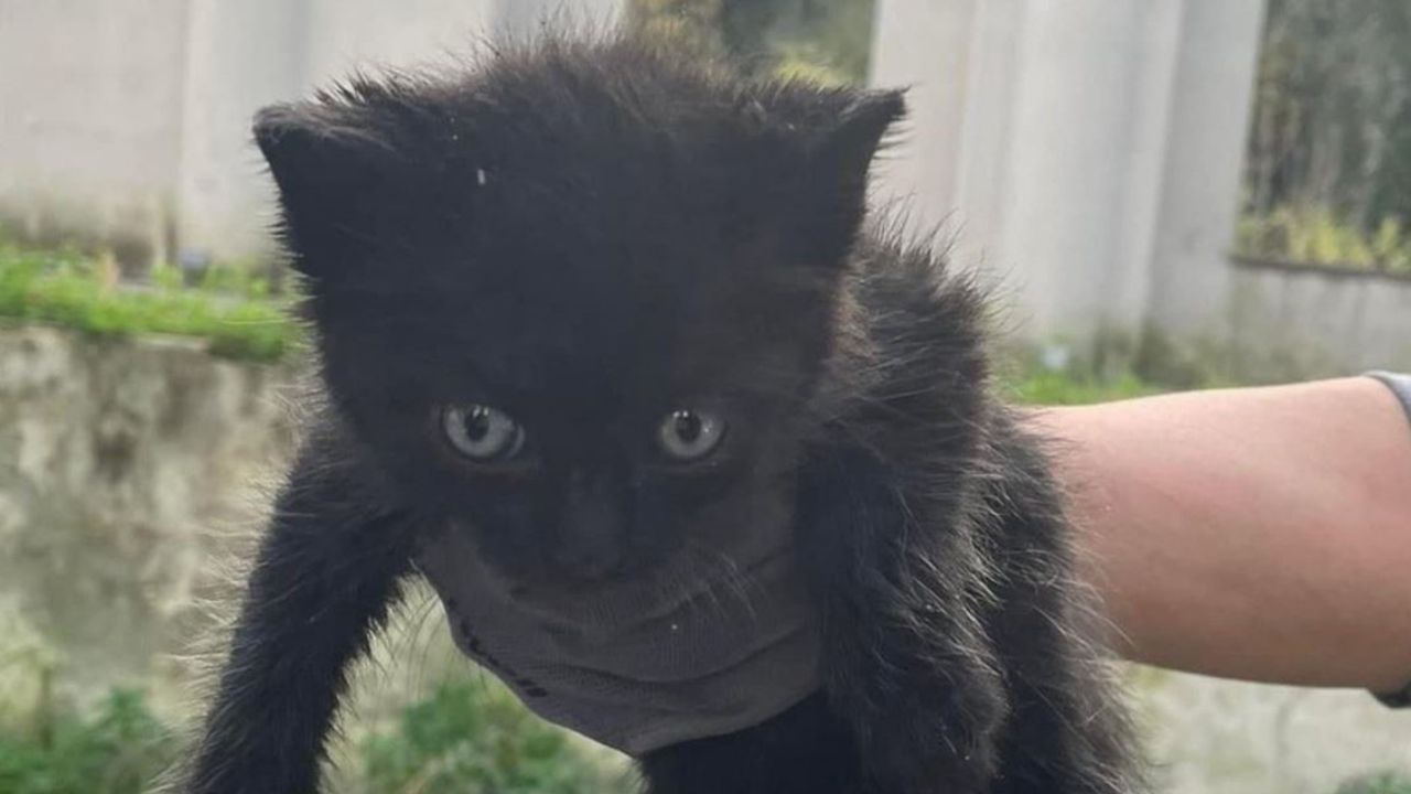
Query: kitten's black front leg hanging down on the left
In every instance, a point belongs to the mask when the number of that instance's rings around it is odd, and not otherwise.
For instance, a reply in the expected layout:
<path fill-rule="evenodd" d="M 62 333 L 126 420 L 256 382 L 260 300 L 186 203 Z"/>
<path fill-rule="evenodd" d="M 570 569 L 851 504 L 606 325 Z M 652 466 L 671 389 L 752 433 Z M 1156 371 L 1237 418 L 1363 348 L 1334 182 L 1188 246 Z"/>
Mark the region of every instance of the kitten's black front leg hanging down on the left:
<path fill-rule="evenodd" d="M 411 567 L 411 527 L 305 449 L 248 581 L 186 794 L 313 794 L 350 660 Z"/>

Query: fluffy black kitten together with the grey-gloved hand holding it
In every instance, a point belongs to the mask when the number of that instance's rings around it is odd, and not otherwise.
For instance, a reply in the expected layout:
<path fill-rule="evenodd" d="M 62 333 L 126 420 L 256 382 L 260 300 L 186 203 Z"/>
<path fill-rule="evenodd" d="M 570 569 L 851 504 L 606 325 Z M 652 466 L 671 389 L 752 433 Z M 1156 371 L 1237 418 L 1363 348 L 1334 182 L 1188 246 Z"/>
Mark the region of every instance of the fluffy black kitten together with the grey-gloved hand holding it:
<path fill-rule="evenodd" d="M 1134 791 L 985 298 L 862 230 L 902 110 L 550 40 L 261 113 L 327 401 L 188 791 L 313 791 L 413 574 L 655 794 Z"/>

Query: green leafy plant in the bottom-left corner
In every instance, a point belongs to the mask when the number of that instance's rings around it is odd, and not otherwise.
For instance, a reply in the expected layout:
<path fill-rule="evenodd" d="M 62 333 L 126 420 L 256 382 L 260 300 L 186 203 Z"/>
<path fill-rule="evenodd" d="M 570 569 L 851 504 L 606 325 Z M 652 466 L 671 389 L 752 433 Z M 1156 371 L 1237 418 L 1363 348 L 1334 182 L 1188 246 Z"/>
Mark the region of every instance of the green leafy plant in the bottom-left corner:
<path fill-rule="evenodd" d="M 89 719 L 55 718 L 32 735 L 0 735 L 6 794 L 140 794 L 175 742 L 141 692 L 114 691 Z"/>

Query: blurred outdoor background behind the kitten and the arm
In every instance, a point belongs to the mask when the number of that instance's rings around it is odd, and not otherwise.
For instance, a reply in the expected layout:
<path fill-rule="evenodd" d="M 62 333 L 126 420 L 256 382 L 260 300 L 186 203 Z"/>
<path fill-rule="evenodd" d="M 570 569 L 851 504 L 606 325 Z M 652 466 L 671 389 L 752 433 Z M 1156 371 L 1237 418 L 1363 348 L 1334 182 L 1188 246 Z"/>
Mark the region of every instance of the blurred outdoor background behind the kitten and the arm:
<path fill-rule="evenodd" d="M 291 452 L 254 110 L 564 14 L 909 86 L 878 205 L 1003 285 L 1019 400 L 1411 370 L 1405 0 L 0 0 L 0 794 L 152 780 Z M 405 612 L 333 790 L 622 790 Z M 1411 793 L 1363 692 L 1127 672 L 1163 791 Z"/>

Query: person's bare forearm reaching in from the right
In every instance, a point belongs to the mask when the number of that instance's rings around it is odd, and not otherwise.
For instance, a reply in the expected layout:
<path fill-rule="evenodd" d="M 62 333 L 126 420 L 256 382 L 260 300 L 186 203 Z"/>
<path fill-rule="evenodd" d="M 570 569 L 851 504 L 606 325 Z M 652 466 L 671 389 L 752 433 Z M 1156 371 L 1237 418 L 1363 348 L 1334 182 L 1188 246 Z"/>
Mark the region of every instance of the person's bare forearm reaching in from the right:
<path fill-rule="evenodd" d="M 1398 691 L 1411 428 L 1369 377 L 1053 408 L 1089 579 L 1137 661 Z"/>

